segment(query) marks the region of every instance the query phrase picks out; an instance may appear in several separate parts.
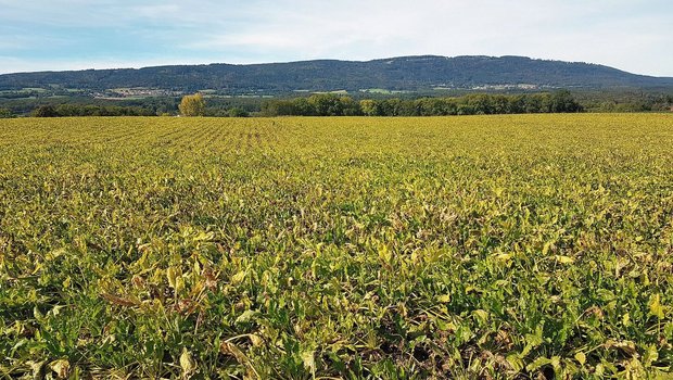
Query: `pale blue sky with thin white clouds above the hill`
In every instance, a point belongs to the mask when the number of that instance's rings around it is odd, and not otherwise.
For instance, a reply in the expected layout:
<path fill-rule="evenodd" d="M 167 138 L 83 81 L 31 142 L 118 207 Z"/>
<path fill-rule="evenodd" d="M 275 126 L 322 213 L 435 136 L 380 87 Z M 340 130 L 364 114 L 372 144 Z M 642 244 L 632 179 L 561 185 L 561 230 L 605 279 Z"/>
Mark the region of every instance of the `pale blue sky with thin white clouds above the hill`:
<path fill-rule="evenodd" d="M 671 0 L 0 0 L 0 73 L 524 55 L 673 77 Z"/>

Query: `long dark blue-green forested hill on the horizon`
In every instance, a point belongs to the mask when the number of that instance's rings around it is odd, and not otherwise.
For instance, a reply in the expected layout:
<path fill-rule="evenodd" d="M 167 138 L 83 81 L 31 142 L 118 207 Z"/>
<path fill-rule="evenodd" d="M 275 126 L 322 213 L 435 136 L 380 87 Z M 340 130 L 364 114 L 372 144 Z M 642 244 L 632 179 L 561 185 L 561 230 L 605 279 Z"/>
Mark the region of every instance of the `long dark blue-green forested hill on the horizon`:
<path fill-rule="evenodd" d="M 278 93 L 289 91 L 418 91 L 455 89 L 672 88 L 673 78 L 617 68 L 522 56 L 403 56 L 368 62 L 304 61 L 251 65 L 209 64 L 139 69 L 88 69 L 0 75 L 0 90 L 22 88 L 152 88 L 176 91 Z"/>

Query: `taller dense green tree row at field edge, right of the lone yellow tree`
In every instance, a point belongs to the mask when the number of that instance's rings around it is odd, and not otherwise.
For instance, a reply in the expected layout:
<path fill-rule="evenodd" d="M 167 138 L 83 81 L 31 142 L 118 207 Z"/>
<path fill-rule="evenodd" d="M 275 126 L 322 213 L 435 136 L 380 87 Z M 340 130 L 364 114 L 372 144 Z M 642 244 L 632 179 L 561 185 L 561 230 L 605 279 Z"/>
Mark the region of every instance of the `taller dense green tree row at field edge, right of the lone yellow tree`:
<path fill-rule="evenodd" d="M 468 94 L 459 98 L 364 99 L 333 93 L 269 100 L 265 116 L 448 116 L 525 113 L 576 113 L 582 105 L 568 90 L 533 94 Z"/>

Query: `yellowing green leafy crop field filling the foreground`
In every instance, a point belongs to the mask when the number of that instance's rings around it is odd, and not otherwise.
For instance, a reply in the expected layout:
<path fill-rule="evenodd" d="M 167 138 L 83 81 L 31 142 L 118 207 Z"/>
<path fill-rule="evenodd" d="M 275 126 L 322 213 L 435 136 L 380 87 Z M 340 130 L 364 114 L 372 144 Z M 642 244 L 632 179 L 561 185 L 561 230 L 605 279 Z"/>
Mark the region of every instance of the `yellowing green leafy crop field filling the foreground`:
<path fill-rule="evenodd" d="M 0 121 L 0 378 L 670 378 L 672 344 L 673 115 Z"/>

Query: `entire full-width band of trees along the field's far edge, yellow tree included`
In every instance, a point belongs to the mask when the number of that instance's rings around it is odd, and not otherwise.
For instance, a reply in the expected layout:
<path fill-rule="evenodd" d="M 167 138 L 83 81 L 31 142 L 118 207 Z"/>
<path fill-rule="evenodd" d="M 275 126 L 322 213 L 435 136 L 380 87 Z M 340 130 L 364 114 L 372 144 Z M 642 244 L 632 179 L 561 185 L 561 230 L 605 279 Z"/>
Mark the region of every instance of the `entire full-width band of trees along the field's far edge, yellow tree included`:
<path fill-rule="evenodd" d="M 238 99 L 203 97 L 149 98 L 122 104 L 0 104 L 0 118 L 16 116 L 446 116 L 575 112 L 668 112 L 673 96 L 571 93 L 473 93 L 442 98 L 357 99 L 339 93 L 301 98 Z M 577 98 L 579 97 L 579 98 Z M 98 100 L 97 100 L 98 101 Z"/>

